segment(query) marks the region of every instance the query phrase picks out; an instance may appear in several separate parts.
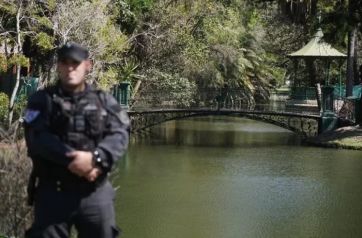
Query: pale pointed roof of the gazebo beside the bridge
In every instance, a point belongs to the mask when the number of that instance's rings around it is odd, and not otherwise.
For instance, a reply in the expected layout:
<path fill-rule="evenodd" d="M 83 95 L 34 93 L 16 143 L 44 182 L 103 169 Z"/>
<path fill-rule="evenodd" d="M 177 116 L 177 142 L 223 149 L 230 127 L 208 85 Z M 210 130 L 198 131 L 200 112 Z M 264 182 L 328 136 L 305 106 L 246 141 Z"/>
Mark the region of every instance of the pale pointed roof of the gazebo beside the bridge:
<path fill-rule="evenodd" d="M 318 29 L 308 44 L 306 44 L 300 50 L 288 55 L 290 58 L 346 58 L 347 55 L 339 52 L 333 48 L 330 44 L 322 40 L 323 31 Z"/>

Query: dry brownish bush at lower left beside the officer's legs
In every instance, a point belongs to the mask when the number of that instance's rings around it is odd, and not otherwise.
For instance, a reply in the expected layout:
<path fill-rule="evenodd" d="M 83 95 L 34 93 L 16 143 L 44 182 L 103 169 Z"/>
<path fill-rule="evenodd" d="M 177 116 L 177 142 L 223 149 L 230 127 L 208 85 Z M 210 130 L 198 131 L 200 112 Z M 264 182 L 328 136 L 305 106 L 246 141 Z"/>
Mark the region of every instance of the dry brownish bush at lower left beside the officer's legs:
<path fill-rule="evenodd" d="M 0 138 L 0 237 L 23 237 L 32 221 L 26 191 L 31 160 L 25 143 L 12 142 L 16 136 L 0 130 Z"/>

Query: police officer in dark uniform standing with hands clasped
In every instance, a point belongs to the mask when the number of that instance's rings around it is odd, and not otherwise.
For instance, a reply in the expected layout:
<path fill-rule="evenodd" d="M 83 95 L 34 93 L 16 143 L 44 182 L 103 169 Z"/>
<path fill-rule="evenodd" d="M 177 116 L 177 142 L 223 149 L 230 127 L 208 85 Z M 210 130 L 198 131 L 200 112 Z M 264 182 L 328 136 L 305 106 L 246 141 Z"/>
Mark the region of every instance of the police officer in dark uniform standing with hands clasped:
<path fill-rule="evenodd" d="M 76 43 L 58 49 L 55 86 L 30 97 L 24 117 L 34 223 L 27 238 L 118 235 L 114 190 L 107 175 L 128 145 L 129 118 L 109 94 L 85 82 L 89 52 Z"/>

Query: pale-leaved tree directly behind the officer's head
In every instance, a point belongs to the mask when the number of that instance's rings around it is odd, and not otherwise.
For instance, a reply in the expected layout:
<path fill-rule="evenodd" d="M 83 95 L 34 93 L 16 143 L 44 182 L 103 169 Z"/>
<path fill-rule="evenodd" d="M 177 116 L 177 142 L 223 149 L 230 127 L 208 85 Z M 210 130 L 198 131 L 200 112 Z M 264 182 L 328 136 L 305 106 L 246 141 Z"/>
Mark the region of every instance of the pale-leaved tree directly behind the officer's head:
<path fill-rule="evenodd" d="M 115 67 L 128 47 L 127 37 L 112 19 L 111 6 L 110 0 L 59 1 L 51 18 L 58 44 L 76 41 L 90 49 L 90 81 L 107 88 L 117 83 Z"/>

